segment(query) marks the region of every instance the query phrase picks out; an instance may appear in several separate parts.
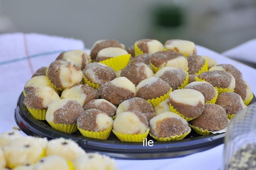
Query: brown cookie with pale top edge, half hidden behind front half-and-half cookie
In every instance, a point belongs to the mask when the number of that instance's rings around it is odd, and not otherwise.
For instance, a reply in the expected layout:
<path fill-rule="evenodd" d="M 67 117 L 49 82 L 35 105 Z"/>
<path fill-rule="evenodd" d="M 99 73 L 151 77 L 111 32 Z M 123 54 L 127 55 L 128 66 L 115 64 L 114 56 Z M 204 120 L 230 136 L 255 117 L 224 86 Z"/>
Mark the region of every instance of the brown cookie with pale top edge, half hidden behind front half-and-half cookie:
<path fill-rule="evenodd" d="M 112 103 L 108 102 L 105 99 L 91 100 L 84 106 L 84 110 L 89 110 L 89 109 L 101 110 L 110 117 L 113 117 L 114 115 L 116 115 L 116 110 L 117 110 L 115 105 L 113 105 Z"/>

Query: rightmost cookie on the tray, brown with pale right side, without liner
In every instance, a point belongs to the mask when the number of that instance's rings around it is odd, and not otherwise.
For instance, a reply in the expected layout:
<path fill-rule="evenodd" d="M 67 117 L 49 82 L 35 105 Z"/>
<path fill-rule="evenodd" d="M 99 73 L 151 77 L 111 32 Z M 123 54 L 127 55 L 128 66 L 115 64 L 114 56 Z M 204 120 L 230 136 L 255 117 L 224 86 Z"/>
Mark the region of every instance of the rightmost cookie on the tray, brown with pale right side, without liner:
<path fill-rule="evenodd" d="M 236 79 L 234 90 L 234 92 L 239 94 L 244 101 L 248 100 L 252 95 L 251 87 L 244 79 Z"/>

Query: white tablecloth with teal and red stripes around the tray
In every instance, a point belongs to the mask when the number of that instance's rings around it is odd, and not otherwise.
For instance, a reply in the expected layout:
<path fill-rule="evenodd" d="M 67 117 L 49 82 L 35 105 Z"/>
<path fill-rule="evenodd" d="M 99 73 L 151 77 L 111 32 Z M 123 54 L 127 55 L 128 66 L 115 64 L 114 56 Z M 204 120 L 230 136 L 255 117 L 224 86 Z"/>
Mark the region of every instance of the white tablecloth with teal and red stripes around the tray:
<path fill-rule="evenodd" d="M 32 73 L 39 67 L 49 65 L 61 51 L 70 49 L 84 49 L 84 44 L 80 40 L 39 34 L 16 33 L 0 35 L 0 132 L 11 130 L 12 127 L 17 126 L 14 121 L 14 109 L 18 96 Z M 213 57 L 219 64 L 235 65 L 243 73 L 244 79 L 249 82 L 252 91 L 256 94 L 256 69 L 202 46 L 197 46 L 197 49 L 199 55 Z M 232 56 L 231 50 L 229 50 L 229 55 Z M 183 158 L 116 160 L 116 162 L 121 170 L 217 170 L 222 164 L 222 151 L 223 145 L 220 145 Z"/>

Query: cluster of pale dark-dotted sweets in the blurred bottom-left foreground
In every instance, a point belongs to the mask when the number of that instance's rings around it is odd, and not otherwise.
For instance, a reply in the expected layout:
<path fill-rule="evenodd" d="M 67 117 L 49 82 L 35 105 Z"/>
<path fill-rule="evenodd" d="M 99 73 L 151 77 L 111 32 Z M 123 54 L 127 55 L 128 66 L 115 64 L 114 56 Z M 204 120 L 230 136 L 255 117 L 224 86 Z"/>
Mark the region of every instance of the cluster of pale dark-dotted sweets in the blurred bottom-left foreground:
<path fill-rule="evenodd" d="M 7 138 L 7 136 L 18 138 Z M 117 170 L 113 159 L 98 153 L 85 153 L 70 139 L 23 137 L 17 131 L 0 133 L 0 141 L 9 142 L 0 147 L 1 170 Z"/>

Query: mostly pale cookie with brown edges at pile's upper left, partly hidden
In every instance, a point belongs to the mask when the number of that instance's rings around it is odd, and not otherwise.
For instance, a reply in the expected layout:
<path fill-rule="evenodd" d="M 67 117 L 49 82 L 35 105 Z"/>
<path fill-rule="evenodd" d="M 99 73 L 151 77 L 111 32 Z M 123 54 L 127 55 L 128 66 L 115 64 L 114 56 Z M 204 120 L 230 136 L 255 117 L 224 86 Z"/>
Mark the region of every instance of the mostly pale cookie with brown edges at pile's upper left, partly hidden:
<path fill-rule="evenodd" d="M 81 70 L 90 63 L 90 56 L 84 50 L 70 50 L 60 53 L 56 60 L 74 62 Z"/>

